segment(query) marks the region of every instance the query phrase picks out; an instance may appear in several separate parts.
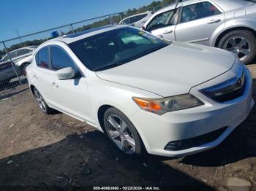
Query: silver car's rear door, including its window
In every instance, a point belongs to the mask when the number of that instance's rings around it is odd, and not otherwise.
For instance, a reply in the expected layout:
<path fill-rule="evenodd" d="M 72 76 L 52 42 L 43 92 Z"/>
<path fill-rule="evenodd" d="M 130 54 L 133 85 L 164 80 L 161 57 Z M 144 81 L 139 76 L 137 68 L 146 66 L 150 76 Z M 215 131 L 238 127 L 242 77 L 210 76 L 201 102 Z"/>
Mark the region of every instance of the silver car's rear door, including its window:
<path fill-rule="evenodd" d="M 225 14 L 210 1 L 201 1 L 182 7 L 176 41 L 211 45 L 211 35 L 218 27 L 224 27 Z"/>

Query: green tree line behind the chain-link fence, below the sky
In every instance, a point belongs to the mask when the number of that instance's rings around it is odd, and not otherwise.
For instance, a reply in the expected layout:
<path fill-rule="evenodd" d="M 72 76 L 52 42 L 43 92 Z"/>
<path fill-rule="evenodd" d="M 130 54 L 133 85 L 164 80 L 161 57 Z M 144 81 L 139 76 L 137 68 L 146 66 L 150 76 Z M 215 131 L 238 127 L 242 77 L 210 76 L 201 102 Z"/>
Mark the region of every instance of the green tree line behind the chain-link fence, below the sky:
<path fill-rule="evenodd" d="M 75 28 L 75 32 L 80 32 L 80 31 L 85 31 L 90 28 L 96 28 L 100 26 L 106 26 L 111 23 L 119 23 L 121 19 L 125 17 L 129 17 L 141 12 L 146 12 L 146 11 L 157 11 L 158 9 L 161 9 L 162 7 L 165 7 L 168 4 L 173 3 L 175 0 L 162 0 L 162 1 L 153 1 L 151 4 L 148 4 L 146 6 L 140 7 L 138 9 L 128 9 L 127 12 L 122 12 L 120 15 L 113 15 L 111 17 L 106 17 L 105 19 L 102 20 L 97 20 L 94 23 L 91 23 L 89 25 L 84 25 L 81 26 L 80 28 Z M 110 22 L 110 20 L 112 22 Z M 68 31 L 66 34 L 72 34 L 72 31 Z M 16 50 L 20 47 L 27 47 L 31 45 L 39 45 L 42 44 L 42 42 L 47 41 L 48 39 L 35 39 L 32 41 L 26 41 L 26 42 L 21 42 L 18 44 L 13 44 L 11 47 L 7 48 L 7 51 L 12 51 Z M 5 55 L 4 50 L 0 50 L 0 56 Z"/>

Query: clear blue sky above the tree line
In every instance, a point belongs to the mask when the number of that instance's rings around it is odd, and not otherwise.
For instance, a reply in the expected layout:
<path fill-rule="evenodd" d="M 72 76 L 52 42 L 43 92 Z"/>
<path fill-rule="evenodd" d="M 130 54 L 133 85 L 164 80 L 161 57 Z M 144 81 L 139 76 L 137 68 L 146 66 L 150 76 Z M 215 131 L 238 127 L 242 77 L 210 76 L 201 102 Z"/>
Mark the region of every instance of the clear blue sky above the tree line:
<path fill-rule="evenodd" d="M 142 7 L 153 0 L 1 0 L 0 41 L 91 17 Z M 3 9 L 4 8 L 4 9 Z"/>

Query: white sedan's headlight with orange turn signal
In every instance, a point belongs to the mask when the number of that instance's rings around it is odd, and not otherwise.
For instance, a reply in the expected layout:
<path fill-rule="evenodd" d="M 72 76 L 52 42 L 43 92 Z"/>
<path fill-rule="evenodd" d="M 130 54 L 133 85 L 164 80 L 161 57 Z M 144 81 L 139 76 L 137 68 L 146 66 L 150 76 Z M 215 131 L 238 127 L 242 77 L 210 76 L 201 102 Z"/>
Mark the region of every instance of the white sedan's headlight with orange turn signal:
<path fill-rule="evenodd" d="M 191 94 L 176 95 L 169 98 L 132 98 L 141 109 L 159 115 L 181 109 L 189 109 L 203 105 L 203 102 Z"/>

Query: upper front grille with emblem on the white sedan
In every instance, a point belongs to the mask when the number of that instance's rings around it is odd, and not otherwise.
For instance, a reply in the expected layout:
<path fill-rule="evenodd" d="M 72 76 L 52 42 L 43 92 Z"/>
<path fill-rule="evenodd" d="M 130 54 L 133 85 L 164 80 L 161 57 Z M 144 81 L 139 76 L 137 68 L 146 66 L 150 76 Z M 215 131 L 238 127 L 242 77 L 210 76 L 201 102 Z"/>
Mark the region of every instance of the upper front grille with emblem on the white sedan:
<path fill-rule="evenodd" d="M 244 94 L 245 88 L 246 77 L 243 69 L 237 77 L 219 85 L 200 90 L 200 92 L 212 98 L 214 101 L 223 103 L 241 97 Z"/>

